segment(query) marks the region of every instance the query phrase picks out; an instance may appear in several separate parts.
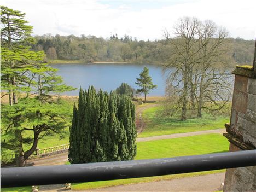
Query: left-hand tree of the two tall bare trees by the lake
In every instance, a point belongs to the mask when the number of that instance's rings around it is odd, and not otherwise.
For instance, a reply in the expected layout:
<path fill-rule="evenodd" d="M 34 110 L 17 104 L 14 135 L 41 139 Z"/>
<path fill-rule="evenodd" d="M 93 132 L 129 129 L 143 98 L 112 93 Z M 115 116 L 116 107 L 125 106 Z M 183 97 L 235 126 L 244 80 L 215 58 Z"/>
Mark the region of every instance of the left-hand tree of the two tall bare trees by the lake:
<path fill-rule="evenodd" d="M 187 119 L 191 70 L 195 63 L 195 55 L 200 51 L 200 48 L 197 47 L 199 44 L 200 28 L 201 22 L 199 20 L 186 17 L 179 19 L 177 25 L 174 27 L 176 38 L 170 38 L 170 34 L 165 32 L 167 41 L 172 45 L 171 59 L 166 65 L 166 70 L 169 71 L 169 83 L 176 90 L 179 90 L 178 103 L 181 103 L 181 120 Z"/>

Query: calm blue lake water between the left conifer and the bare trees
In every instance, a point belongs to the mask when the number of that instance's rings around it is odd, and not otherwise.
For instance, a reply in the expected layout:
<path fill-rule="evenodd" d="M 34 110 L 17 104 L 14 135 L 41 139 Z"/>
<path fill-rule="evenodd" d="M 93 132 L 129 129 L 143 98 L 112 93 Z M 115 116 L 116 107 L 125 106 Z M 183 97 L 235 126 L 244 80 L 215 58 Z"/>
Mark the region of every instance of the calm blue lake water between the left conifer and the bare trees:
<path fill-rule="evenodd" d="M 162 74 L 162 68 L 155 65 L 137 65 L 137 64 L 53 64 L 53 68 L 59 69 L 57 75 L 60 75 L 67 85 L 83 89 L 88 89 L 90 85 L 104 91 L 115 90 L 121 83 L 125 82 L 137 89 L 135 84 L 136 77 L 146 66 L 149 68 L 149 75 L 152 82 L 158 85 L 158 88 L 149 92 L 149 96 L 165 95 L 165 77 Z M 78 95 L 79 89 L 69 91 L 63 95 Z"/>

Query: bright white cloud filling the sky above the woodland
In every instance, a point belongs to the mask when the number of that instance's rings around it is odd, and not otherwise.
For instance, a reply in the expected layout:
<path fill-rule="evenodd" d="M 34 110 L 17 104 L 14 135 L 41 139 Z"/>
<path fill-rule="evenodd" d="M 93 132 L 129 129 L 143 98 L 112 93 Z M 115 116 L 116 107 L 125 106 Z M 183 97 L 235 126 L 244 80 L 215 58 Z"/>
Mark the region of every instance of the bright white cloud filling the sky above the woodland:
<path fill-rule="evenodd" d="M 144 2 L 144 3 L 150 3 Z M 151 2 L 152 3 L 152 2 Z M 183 16 L 210 19 L 226 27 L 231 37 L 255 39 L 256 1 L 188 1 L 161 8 L 132 9 L 131 4 L 112 7 L 106 1 L 8 0 L 2 3 L 26 13 L 34 34 L 80 34 L 109 37 L 129 34 L 137 39 L 161 39 Z M 113 2 L 112 2 L 113 4 Z M 132 6 L 136 7 L 136 1 Z"/>

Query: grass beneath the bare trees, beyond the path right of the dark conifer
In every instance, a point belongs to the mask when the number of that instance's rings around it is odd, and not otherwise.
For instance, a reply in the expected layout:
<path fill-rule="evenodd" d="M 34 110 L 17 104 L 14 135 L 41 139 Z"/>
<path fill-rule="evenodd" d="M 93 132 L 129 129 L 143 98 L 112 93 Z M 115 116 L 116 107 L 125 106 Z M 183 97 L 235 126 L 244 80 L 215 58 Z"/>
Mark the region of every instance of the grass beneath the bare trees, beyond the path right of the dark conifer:
<path fill-rule="evenodd" d="M 179 120 L 179 117 L 164 117 L 163 106 L 155 106 L 144 110 L 142 117 L 146 123 L 146 129 L 138 137 L 150 137 L 156 135 L 168 135 L 173 133 L 185 133 L 202 130 L 222 129 L 224 124 L 229 122 L 228 116 L 212 117 L 203 114 L 202 118 Z"/>

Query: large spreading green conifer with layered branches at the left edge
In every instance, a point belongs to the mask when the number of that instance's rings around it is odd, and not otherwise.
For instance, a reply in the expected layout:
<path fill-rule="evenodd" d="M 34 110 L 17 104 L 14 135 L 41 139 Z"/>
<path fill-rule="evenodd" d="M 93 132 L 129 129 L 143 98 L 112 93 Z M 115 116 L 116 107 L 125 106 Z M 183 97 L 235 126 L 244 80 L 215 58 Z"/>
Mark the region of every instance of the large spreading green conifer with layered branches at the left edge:
<path fill-rule="evenodd" d="M 18 157 L 17 166 L 25 166 L 42 135 L 59 133 L 63 138 L 69 107 L 63 101 L 55 102 L 50 95 L 73 88 L 61 84 L 56 69 L 43 63 L 44 51 L 30 50 L 33 27 L 26 25 L 25 13 L 4 6 L 0 9 L 1 89 L 9 96 L 9 105 L 1 105 L 1 149 L 12 150 Z M 24 92 L 26 98 L 19 95 Z M 25 144 L 25 149 L 30 148 L 24 150 Z"/>

